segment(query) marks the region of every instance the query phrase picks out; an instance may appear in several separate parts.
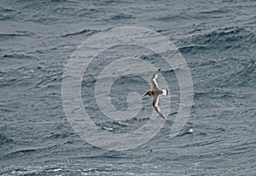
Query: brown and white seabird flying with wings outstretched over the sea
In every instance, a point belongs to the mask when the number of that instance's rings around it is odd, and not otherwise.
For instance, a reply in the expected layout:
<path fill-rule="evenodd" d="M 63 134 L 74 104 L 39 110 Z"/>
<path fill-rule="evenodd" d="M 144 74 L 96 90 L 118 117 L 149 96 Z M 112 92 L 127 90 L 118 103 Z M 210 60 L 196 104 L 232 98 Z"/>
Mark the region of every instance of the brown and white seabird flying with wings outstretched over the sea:
<path fill-rule="evenodd" d="M 149 95 L 152 96 L 153 98 L 153 107 L 154 110 L 162 117 L 165 119 L 165 116 L 163 115 L 163 113 L 160 111 L 160 107 L 159 107 L 159 96 L 160 95 L 167 95 L 168 94 L 168 90 L 167 89 L 160 89 L 158 88 L 158 84 L 156 82 L 156 78 L 158 77 L 158 74 L 160 72 L 161 69 L 159 69 L 158 71 L 155 71 L 153 77 L 151 78 L 151 84 L 152 84 L 152 88 L 151 90 L 149 90 L 144 96 Z"/>

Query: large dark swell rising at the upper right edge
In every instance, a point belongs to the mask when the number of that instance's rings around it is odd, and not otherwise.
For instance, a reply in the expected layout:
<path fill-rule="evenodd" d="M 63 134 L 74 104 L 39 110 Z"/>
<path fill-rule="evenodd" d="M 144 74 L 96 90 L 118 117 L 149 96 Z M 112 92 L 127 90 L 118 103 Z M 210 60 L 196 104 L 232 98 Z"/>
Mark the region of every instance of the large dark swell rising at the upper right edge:
<path fill-rule="evenodd" d="M 242 27 L 226 27 L 215 31 L 189 37 L 180 44 L 181 53 L 197 54 L 218 50 L 218 52 L 248 48 L 246 43 L 254 43 L 255 34 Z M 243 43 L 243 44 L 241 44 Z"/>

